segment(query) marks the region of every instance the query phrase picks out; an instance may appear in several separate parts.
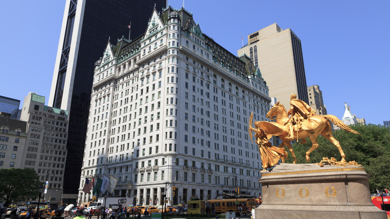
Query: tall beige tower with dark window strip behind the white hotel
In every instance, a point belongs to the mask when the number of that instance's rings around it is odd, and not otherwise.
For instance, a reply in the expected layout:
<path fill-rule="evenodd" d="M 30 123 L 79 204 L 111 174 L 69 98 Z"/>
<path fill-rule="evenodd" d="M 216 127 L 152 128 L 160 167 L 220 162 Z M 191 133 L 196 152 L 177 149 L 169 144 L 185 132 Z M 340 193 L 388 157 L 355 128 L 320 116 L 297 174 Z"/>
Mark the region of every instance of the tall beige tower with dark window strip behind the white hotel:
<path fill-rule="evenodd" d="M 248 44 L 237 54 L 250 56 L 269 87 L 269 96 L 276 97 L 286 108 L 290 95 L 307 102 L 306 76 L 300 39 L 291 29 L 276 23 L 248 35 Z"/>

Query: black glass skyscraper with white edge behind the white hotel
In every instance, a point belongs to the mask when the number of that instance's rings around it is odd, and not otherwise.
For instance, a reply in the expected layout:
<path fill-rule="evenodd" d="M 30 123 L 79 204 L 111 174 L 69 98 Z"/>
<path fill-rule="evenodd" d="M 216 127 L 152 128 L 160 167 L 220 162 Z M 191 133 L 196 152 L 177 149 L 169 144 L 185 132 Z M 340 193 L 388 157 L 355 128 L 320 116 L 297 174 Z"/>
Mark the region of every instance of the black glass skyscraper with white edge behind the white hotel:
<path fill-rule="evenodd" d="M 65 194 L 79 187 L 94 62 L 108 37 L 128 37 L 130 22 L 130 38 L 145 32 L 154 5 L 166 0 L 66 0 L 48 103 L 69 111 Z"/>

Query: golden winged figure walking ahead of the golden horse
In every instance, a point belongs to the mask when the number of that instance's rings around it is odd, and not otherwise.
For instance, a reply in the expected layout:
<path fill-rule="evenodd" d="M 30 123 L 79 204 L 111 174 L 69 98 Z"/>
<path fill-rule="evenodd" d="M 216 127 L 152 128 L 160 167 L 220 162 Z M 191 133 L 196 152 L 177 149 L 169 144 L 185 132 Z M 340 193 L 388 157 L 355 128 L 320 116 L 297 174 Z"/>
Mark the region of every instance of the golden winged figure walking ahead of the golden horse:
<path fill-rule="evenodd" d="M 258 145 L 258 152 L 260 153 L 261 163 L 264 170 L 276 165 L 280 158 L 281 161 L 284 162 L 287 158 L 287 151 L 285 151 L 284 148 L 272 146 L 269 139 L 272 135 L 278 136 L 285 131 L 288 131 L 288 128 L 276 122 L 269 121 L 255 121 L 255 128 L 253 128 L 252 119 L 253 112 L 249 115 L 249 137 L 252 140 L 252 131 L 254 131 L 255 142 Z"/>

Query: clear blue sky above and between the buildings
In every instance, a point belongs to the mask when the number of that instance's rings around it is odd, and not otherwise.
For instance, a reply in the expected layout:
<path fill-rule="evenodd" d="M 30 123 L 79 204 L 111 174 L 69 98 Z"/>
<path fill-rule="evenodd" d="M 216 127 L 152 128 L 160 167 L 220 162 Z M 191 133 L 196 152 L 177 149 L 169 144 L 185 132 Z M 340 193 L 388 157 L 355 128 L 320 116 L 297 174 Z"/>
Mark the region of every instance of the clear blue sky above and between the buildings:
<path fill-rule="evenodd" d="M 0 95 L 22 104 L 32 91 L 47 104 L 65 0 L 1 3 Z M 183 0 L 168 3 L 180 8 Z M 328 114 L 341 118 L 347 102 L 367 123 L 390 120 L 389 0 L 184 0 L 184 8 L 233 54 L 241 32 L 246 44 L 272 23 L 290 28 L 302 42 L 307 85 L 319 85 Z"/>

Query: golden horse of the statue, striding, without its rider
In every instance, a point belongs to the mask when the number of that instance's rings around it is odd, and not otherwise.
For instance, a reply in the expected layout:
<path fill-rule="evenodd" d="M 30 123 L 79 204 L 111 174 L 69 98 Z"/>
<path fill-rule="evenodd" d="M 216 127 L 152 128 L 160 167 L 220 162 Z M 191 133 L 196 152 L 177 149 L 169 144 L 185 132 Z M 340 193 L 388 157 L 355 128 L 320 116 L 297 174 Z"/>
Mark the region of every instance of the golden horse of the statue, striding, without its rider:
<path fill-rule="evenodd" d="M 272 106 L 271 109 L 269 109 L 266 116 L 271 120 L 276 120 L 276 123 L 278 123 L 279 125 L 284 126 L 285 127 L 284 130 L 286 130 L 286 129 L 288 130 L 288 127 L 284 125 L 284 123 L 288 120 L 288 115 L 287 115 L 287 111 L 285 110 L 283 104 L 277 102 L 274 106 Z M 315 148 L 318 147 L 317 137 L 319 134 L 322 135 L 323 137 L 325 137 L 326 139 L 328 139 L 332 144 L 334 144 L 334 146 L 337 147 L 337 149 L 341 155 L 340 162 L 346 162 L 345 154 L 342 151 L 340 143 L 333 137 L 331 124 L 327 119 L 329 119 L 335 125 L 339 126 L 340 128 L 342 128 L 348 132 L 351 132 L 354 134 L 359 134 L 357 131 L 351 129 L 348 125 L 342 123 L 342 121 L 334 115 L 312 115 L 312 116 L 309 116 L 307 118 L 307 120 L 308 120 L 308 122 L 310 122 L 311 126 L 313 127 L 312 129 L 297 130 L 296 132 L 294 132 L 293 136 L 288 136 L 288 131 L 284 131 L 284 133 L 279 135 L 279 138 L 282 140 L 282 143 L 279 145 L 279 147 L 284 147 L 284 145 L 287 146 L 288 150 L 290 151 L 290 153 L 293 157 L 293 163 L 296 162 L 296 157 L 295 157 L 295 154 L 294 154 L 294 151 L 292 149 L 290 141 L 310 137 L 312 145 L 311 145 L 311 148 L 309 150 L 307 150 L 307 152 L 305 154 L 306 161 L 308 162 L 310 160 L 311 151 L 313 151 Z M 268 125 L 271 125 L 271 124 L 267 124 L 267 122 L 261 123 L 261 126 L 264 126 L 264 127 L 268 126 Z M 272 126 L 274 126 L 274 125 L 272 125 Z"/>

